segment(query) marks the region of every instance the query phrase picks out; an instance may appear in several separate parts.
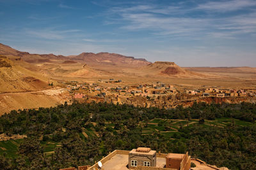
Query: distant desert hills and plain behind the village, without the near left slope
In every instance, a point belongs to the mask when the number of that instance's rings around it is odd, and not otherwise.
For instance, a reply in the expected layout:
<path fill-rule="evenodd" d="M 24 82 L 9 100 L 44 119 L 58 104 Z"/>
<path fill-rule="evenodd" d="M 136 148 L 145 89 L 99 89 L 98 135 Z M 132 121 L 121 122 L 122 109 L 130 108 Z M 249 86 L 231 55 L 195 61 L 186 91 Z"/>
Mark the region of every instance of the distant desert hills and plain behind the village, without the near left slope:
<path fill-rule="evenodd" d="M 148 62 L 118 53 L 81 53 L 79 55 L 31 54 L 19 52 L 0 44 L 0 55 L 5 55 L 20 67 L 54 80 L 86 78 L 97 81 L 99 78 L 116 78 L 134 81 L 156 78 L 164 80 L 204 79 L 204 80 L 254 80 L 256 69 L 252 67 L 179 67 L 174 62 Z M 132 79 L 131 79 L 132 77 Z M 172 79 L 170 79 L 170 78 Z M 194 84 L 194 83 L 192 83 Z M 252 84 L 252 83 L 250 83 Z M 254 84 L 254 83 L 253 83 Z"/>

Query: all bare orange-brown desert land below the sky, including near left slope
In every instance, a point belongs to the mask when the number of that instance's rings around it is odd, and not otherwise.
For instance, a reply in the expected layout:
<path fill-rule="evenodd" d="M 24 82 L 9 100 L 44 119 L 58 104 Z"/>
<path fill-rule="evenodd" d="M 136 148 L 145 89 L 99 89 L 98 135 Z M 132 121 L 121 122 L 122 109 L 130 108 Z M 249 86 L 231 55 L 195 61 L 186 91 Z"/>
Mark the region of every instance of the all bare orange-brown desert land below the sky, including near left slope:
<path fill-rule="evenodd" d="M 117 53 L 31 54 L 0 44 L 0 113 L 55 106 L 72 96 L 63 81 L 102 87 L 150 84 L 180 88 L 256 89 L 255 67 L 179 67 L 175 62 L 148 62 Z M 122 80 L 106 83 L 103 80 Z"/>

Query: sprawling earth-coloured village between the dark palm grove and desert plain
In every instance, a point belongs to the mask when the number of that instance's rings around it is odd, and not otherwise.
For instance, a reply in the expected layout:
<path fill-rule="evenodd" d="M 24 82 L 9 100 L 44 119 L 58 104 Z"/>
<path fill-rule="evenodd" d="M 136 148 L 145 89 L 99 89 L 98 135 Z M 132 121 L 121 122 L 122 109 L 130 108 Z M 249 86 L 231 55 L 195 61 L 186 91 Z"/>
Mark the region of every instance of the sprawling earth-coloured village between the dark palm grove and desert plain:
<path fill-rule="evenodd" d="M 61 81 L 74 100 L 84 103 L 106 102 L 132 104 L 141 107 L 175 108 L 191 106 L 194 102 L 241 103 L 255 102 L 256 89 L 227 89 L 202 86 L 188 89 L 160 81 L 141 85 L 123 85 L 122 80 L 99 80 L 99 83 Z M 100 84 L 100 85 L 99 85 Z M 111 87 L 106 86 L 111 84 Z"/>

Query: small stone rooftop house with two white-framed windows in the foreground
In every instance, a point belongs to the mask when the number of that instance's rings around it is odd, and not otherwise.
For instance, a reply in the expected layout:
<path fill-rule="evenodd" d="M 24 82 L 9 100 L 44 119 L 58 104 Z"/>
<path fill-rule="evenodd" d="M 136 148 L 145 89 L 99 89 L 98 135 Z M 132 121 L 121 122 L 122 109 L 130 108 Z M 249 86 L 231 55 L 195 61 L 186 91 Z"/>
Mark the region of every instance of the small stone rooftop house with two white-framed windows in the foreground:
<path fill-rule="evenodd" d="M 129 169 L 137 166 L 156 167 L 156 150 L 137 148 L 129 152 Z"/>

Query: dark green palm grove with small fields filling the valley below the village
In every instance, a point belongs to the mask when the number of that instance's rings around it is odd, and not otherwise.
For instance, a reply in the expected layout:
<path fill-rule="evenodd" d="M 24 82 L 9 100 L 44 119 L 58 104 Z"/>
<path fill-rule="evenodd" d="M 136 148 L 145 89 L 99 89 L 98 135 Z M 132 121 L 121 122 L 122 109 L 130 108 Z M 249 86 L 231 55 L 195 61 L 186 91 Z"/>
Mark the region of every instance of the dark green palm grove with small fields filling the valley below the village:
<path fill-rule="evenodd" d="M 16 147 L 12 141 L 0 143 L 14 150 L 0 148 L 0 169 L 77 167 L 138 146 L 162 153 L 188 151 L 218 167 L 256 169 L 255 119 L 256 104 L 251 103 L 195 103 L 170 110 L 73 103 L 11 111 L 0 117 L 0 134 L 28 138 L 14 141 Z"/>

